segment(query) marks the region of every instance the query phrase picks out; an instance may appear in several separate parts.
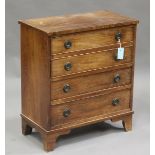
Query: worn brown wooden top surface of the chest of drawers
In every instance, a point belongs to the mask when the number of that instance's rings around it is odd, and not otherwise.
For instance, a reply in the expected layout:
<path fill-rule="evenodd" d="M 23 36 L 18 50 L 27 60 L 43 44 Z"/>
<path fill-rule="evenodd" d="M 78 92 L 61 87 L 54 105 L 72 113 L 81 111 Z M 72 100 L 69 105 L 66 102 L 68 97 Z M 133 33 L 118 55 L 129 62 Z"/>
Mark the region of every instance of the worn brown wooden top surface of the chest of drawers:
<path fill-rule="evenodd" d="M 21 20 L 48 35 L 70 34 L 116 26 L 137 24 L 137 20 L 110 11 Z"/>

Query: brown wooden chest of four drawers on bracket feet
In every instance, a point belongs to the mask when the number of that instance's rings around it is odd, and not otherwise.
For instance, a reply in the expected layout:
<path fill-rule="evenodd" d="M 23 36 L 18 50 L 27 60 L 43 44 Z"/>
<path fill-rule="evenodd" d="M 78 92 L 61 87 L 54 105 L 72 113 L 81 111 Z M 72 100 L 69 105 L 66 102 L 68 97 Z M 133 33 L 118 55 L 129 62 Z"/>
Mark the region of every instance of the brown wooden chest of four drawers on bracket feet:
<path fill-rule="evenodd" d="M 84 125 L 131 130 L 137 20 L 98 11 L 19 23 L 24 135 L 35 128 L 49 151 Z"/>

